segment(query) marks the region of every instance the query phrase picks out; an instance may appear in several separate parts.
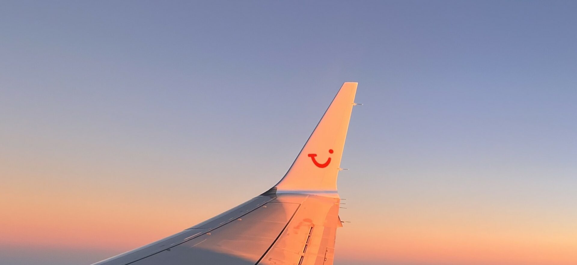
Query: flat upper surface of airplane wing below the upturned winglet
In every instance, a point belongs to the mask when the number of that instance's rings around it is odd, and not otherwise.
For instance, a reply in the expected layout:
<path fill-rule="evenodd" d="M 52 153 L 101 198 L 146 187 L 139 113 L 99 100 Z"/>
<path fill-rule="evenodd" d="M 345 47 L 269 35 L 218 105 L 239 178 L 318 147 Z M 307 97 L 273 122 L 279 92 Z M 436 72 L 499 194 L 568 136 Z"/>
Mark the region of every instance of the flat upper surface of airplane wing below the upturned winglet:
<path fill-rule="evenodd" d="M 212 221 L 93 265 L 328 265 L 338 210 L 338 198 L 258 196 Z"/>

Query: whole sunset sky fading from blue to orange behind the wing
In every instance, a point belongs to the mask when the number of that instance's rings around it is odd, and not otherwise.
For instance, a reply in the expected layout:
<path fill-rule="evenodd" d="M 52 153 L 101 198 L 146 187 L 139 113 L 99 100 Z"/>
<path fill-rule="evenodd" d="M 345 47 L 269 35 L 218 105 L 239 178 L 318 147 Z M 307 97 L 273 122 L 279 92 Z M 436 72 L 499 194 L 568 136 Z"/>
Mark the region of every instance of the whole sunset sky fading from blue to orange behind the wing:
<path fill-rule="evenodd" d="M 574 1 L 2 1 L 0 264 L 266 191 L 358 81 L 335 265 L 577 264 Z"/>

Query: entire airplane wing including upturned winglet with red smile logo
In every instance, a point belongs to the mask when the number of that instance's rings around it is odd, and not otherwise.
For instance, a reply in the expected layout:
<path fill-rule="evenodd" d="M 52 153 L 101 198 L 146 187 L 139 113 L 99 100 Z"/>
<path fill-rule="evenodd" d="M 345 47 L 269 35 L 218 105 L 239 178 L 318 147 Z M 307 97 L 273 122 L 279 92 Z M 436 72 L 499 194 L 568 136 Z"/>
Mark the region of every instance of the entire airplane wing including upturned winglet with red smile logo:
<path fill-rule="evenodd" d="M 357 83 L 344 83 L 269 191 L 173 236 L 92 265 L 332 265 L 336 178 Z"/>

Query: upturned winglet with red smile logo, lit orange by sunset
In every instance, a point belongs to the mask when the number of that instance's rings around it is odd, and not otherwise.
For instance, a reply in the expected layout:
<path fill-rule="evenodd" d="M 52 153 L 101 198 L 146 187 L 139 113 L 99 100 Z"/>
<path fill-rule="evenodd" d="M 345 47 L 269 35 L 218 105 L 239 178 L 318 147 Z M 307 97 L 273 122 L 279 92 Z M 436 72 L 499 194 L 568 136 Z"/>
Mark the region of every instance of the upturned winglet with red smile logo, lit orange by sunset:
<path fill-rule="evenodd" d="M 336 193 L 356 92 L 357 83 L 343 84 L 297 159 L 273 189 L 286 193 Z"/>

